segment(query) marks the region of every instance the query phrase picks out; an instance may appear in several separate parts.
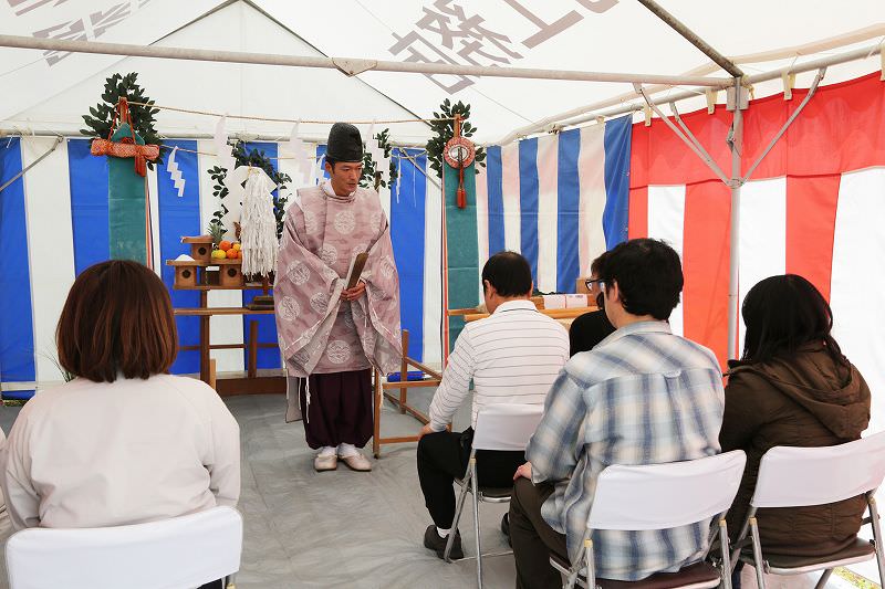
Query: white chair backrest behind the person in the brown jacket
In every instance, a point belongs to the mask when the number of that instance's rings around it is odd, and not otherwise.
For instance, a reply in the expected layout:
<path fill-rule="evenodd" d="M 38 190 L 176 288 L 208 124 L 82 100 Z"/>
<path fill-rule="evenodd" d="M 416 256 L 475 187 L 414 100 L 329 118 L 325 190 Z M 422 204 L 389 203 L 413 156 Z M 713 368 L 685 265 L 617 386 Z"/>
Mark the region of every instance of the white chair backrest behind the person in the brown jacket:
<path fill-rule="evenodd" d="M 754 507 L 823 505 L 882 484 L 885 432 L 822 448 L 774 446 L 759 463 Z"/>

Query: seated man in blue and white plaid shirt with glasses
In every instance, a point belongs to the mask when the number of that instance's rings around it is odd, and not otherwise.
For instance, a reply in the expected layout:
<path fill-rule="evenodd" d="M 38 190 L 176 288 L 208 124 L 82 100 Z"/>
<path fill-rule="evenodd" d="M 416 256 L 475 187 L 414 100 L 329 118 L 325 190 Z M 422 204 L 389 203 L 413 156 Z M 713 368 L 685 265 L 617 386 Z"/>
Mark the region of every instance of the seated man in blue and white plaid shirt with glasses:
<path fill-rule="evenodd" d="M 596 478 L 611 464 L 658 464 L 719 452 L 725 396 L 714 354 L 670 333 L 683 272 L 667 244 L 631 240 L 600 282 L 617 330 L 575 355 L 546 398 L 517 471 L 510 534 L 519 589 L 560 587 L 550 551 L 574 558 Z M 709 522 L 652 532 L 594 532 L 596 576 L 638 580 L 700 560 Z"/>

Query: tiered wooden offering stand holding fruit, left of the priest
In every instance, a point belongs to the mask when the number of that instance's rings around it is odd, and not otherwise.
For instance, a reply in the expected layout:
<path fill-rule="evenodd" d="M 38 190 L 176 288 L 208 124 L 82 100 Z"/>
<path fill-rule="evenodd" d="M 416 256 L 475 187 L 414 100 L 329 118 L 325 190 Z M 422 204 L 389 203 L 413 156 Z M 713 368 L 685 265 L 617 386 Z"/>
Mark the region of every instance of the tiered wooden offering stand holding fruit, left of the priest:
<path fill-rule="evenodd" d="M 225 378 L 216 380 L 216 390 L 219 395 L 250 395 L 268 392 L 285 392 L 284 376 L 258 376 L 258 348 L 278 348 L 278 344 L 258 341 L 258 322 L 249 322 L 249 339 L 243 344 L 216 344 L 211 345 L 209 322 L 215 315 L 273 315 L 273 308 L 250 309 L 246 307 L 210 307 L 209 291 L 244 291 L 261 290 L 268 295 L 271 288 L 270 281 L 264 278 L 260 283 L 247 283 L 242 275 L 242 260 L 214 259 L 212 238 L 198 235 L 181 238 L 181 243 L 190 244 L 191 260 L 167 260 L 166 265 L 175 267 L 176 291 L 199 291 L 200 306 L 194 308 L 176 308 L 178 317 L 200 318 L 200 339 L 197 346 L 181 346 L 179 349 L 199 350 L 200 353 L 200 380 L 209 383 L 214 380 L 210 350 L 214 349 L 246 349 L 248 350 L 247 377 Z"/>

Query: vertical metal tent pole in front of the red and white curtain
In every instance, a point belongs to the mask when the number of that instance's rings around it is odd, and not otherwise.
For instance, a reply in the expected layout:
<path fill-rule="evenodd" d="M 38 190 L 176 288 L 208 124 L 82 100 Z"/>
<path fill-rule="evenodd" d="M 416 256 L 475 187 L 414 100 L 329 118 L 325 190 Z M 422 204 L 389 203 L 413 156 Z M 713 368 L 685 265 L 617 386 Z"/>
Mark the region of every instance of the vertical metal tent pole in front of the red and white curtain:
<path fill-rule="evenodd" d="M 731 150 L 731 212 L 729 214 L 729 272 L 728 272 L 728 359 L 738 357 L 738 311 L 740 308 L 740 189 L 741 154 L 743 152 L 743 111 L 740 109 L 740 93 L 746 92 L 740 78 L 735 78 L 735 116 L 731 120 L 730 137 L 727 139 Z"/>

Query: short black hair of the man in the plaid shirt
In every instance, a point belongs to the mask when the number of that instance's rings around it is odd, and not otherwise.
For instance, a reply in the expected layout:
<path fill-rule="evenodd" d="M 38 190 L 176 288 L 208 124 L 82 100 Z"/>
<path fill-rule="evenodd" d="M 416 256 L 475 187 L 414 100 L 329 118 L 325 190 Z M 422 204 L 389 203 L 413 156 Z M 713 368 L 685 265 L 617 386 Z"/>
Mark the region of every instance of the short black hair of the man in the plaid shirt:
<path fill-rule="evenodd" d="M 679 254 L 659 240 L 635 239 L 618 244 L 603 259 L 600 278 L 606 294 L 617 283 L 624 311 L 669 318 L 683 292 Z"/>

